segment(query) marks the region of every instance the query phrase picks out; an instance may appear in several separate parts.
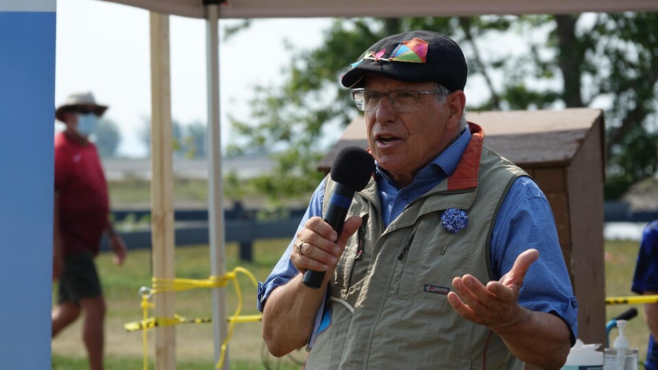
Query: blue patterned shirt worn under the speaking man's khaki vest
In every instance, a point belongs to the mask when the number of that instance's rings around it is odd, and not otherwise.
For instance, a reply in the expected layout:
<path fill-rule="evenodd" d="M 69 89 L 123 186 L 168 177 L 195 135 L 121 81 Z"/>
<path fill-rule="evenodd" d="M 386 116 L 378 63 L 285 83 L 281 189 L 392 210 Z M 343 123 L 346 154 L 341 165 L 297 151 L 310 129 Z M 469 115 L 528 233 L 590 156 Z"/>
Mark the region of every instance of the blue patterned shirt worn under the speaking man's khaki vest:
<path fill-rule="evenodd" d="M 382 219 L 388 226 L 414 199 L 446 180 L 459 164 L 470 141 L 465 130 L 435 160 L 421 169 L 405 188 L 393 184 L 385 171 L 376 167 L 375 178 L 382 204 Z M 302 230 L 310 217 L 322 217 L 324 182 L 321 182 L 300 222 Z M 293 240 L 267 280 L 258 284 L 258 310 L 263 311 L 274 288 L 286 284 L 299 273 L 290 261 Z M 509 271 L 517 256 L 527 249 L 537 249 L 539 259 L 531 264 L 519 295 L 519 304 L 539 312 L 561 317 L 572 332 L 572 344 L 578 337 L 578 304 L 573 295 L 562 251 L 557 239 L 555 219 L 544 193 L 533 180 L 519 177 L 512 184 L 498 212 L 491 238 L 491 268 L 498 280 Z"/>

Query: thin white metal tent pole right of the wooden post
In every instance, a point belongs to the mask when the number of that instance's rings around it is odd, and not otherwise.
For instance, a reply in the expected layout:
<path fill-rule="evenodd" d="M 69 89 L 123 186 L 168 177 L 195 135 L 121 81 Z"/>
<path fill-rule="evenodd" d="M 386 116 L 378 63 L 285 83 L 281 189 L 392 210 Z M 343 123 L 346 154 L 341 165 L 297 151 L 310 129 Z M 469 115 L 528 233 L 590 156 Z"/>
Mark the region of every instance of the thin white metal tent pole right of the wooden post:
<path fill-rule="evenodd" d="M 223 186 L 221 180 L 221 130 L 219 122 L 219 5 L 206 5 L 206 63 L 208 74 L 208 240 L 210 274 L 226 273 Z M 226 289 L 212 290 L 212 325 L 215 336 L 215 362 L 226 338 Z M 228 369 L 228 350 L 222 369 Z"/>

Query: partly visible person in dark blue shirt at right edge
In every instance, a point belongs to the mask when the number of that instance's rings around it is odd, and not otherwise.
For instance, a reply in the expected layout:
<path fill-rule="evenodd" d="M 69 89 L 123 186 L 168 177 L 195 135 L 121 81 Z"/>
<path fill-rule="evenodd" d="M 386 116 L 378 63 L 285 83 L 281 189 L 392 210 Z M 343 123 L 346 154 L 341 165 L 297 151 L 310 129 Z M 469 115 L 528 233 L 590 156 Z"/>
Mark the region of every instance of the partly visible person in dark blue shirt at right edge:
<path fill-rule="evenodd" d="M 658 220 L 644 227 L 631 290 L 642 295 L 658 295 Z M 649 327 L 649 345 L 644 367 L 658 369 L 658 303 L 644 305 L 644 320 Z"/>

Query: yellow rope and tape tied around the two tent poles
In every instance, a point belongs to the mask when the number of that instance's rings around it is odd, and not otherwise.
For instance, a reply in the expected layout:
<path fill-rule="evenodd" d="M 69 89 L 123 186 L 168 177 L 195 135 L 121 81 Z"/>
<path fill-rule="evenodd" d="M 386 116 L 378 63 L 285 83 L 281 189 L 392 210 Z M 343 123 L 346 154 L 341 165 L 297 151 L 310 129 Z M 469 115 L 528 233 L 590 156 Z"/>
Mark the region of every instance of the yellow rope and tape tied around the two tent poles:
<path fill-rule="evenodd" d="M 224 360 L 226 359 L 226 348 L 228 347 L 228 342 L 231 340 L 231 337 L 233 335 L 233 329 L 235 327 L 235 323 L 254 322 L 254 321 L 260 321 L 262 319 L 262 316 L 260 314 L 240 316 L 240 312 L 242 311 L 242 291 L 240 289 L 240 284 L 238 284 L 238 280 L 236 279 L 237 273 L 244 273 L 245 275 L 247 275 L 247 277 L 249 277 L 250 280 L 252 280 L 254 286 L 258 286 L 258 280 L 256 280 L 254 274 L 252 274 L 249 270 L 243 267 L 236 267 L 235 269 L 233 269 L 233 271 L 226 273 L 226 275 L 223 275 L 221 277 L 210 276 L 208 277 L 208 279 L 204 279 L 204 280 L 182 279 L 182 278 L 159 279 L 154 277 L 151 279 L 151 282 L 153 284 L 151 288 L 142 287 L 140 289 L 140 294 L 142 295 L 142 302 L 141 302 L 141 307 L 143 312 L 142 320 L 134 321 L 132 323 L 125 323 L 123 327 L 125 328 L 125 330 L 128 330 L 130 332 L 136 330 L 142 330 L 142 343 L 144 347 L 143 348 L 144 370 L 148 369 L 147 330 L 156 328 L 158 326 L 178 325 L 180 323 L 209 323 L 211 321 L 209 318 L 187 319 L 186 317 L 181 317 L 178 315 L 174 315 L 173 318 L 169 318 L 169 317 L 149 318 L 149 308 L 154 307 L 154 304 L 149 303 L 149 299 L 154 294 L 157 293 L 164 293 L 170 291 L 187 291 L 194 288 L 223 287 L 226 286 L 228 280 L 231 280 L 235 287 L 235 292 L 238 298 L 238 306 L 233 316 L 227 319 L 229 323 L 228 333 L 226 334 L 226 338 L 224 338 L 223 343 L 221 343 L 221 353 L 219 355 L 219 362 L 217 362 L 217 369 L 220 369 L 223 366 Z"/>

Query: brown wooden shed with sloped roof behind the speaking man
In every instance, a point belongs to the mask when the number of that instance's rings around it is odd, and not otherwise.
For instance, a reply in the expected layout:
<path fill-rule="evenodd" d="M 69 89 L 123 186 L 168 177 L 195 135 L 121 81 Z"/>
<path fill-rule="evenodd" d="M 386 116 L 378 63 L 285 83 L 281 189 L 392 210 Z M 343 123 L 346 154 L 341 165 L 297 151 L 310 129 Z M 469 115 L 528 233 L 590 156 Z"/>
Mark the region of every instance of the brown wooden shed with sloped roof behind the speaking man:
<path fill-rule="evenodd" d="M 522 167 L 544 191 L 555 215 L 562 253 L 578 298 L 578 337 L 605 343 L 603 261 L 604 119 L 601 110 L 472 112 L 485 145 Z M 328 172 L 345 145 L 368 146 L 358 116 L 321 160 Z"/>

